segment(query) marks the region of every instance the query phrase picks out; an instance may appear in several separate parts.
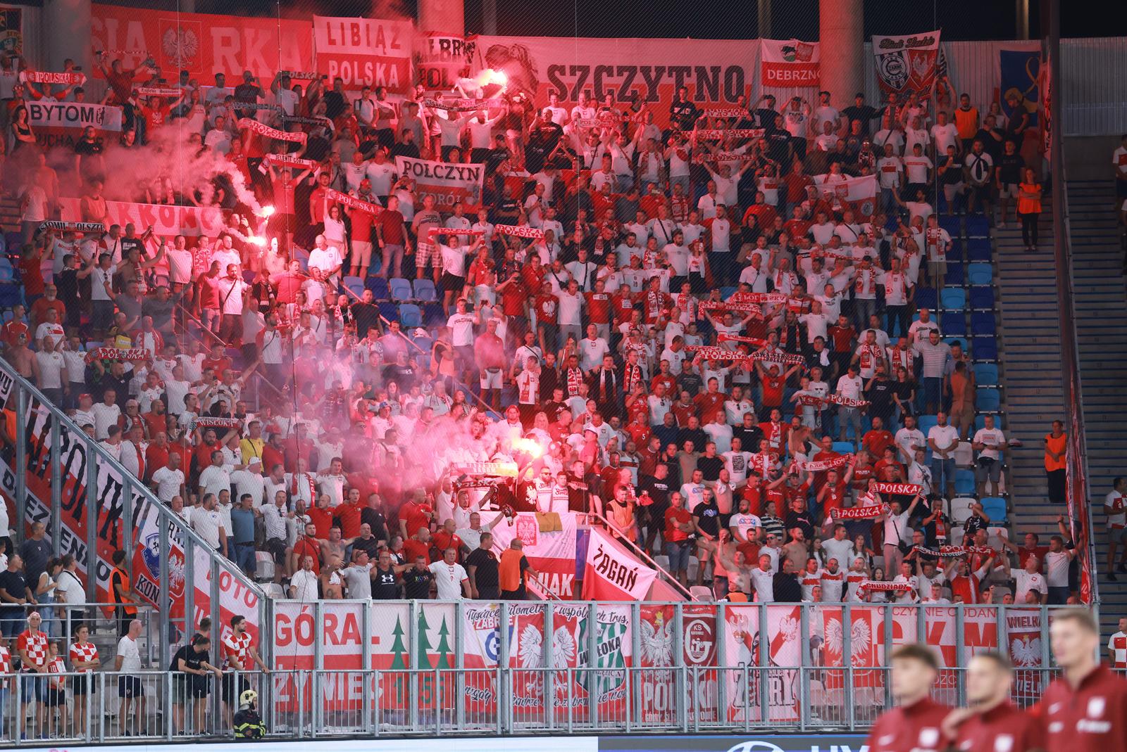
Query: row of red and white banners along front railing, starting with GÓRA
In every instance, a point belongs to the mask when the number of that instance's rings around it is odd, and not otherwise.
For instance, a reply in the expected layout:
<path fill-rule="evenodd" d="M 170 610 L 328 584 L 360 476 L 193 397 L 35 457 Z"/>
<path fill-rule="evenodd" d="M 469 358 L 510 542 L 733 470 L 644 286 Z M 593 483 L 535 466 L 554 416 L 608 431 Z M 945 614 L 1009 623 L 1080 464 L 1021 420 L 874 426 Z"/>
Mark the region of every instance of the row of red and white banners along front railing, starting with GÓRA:
<path fill-rule="evenodd" d="M 953 670 L 983 651 L 1006 652 L 1022 671 L 1047 669 L 1051 614 L 1051 607 L 893 603 L 274 601 L 269 648 L 276 699 L 293 713 L 357 709 L 371 688 L 345 673 L 372 669 L 381 672 L 387 708 L 437 704 L 495 715 L 511 691 L 505 701 L 516 718 L 542 718 L 551 693 L 578 722 L 592 713 L 620 717 L 632 705 L 642 714 L 636 720 L 662 723 L 676 717 L 674 670 L 687 666 L 699 681 L 696 702 L 684 710 L 692 717 L 795 722 L 804 711 L 802 666 L 819 666 L 813 689 L 827 702 L 841 705 L 843 692 L 882 702 L 888 688 L 878 668 L 907 643 L 935 648 L 944 669 L 938 687 L 951 698 Z M 455 682 L 440 691 L 427 673 L 408 675 L 455 666 L 478 671 L 456 695 Z M 498 666 L 512 670 L 511 688 L 497 686 Z M 322 683 L 314 701 L 313 688 L 293 673 L 307 669 L 343 672 L 341 680 Z M 668 673 L 641 674 L 631 704 L 627 677 L 636 669 Z M 550 682 L 544 671 L 553 672 Z M 1030 677 L 1020 691 L 1032 697 L 1040 683 Z"/>

